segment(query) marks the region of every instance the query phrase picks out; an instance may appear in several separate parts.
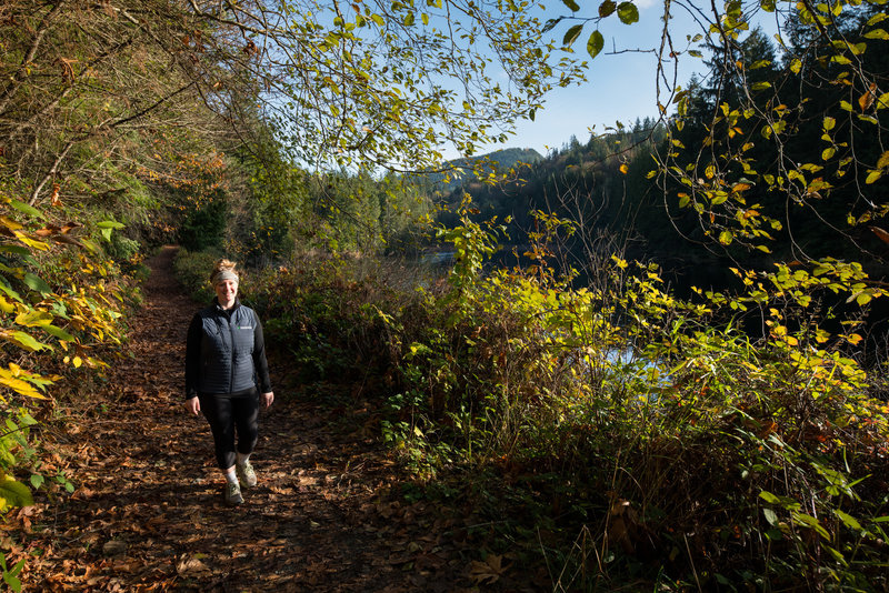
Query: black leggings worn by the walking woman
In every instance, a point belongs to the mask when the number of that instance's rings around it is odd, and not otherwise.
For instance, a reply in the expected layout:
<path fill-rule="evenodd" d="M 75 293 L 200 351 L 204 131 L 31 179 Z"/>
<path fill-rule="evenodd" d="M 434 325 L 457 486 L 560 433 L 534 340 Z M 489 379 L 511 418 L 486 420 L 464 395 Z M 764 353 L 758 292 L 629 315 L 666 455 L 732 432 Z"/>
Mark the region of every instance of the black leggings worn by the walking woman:
<path fill-rule="evenodd" d="M 201 412 L 210 423 L 216 443 L 216 461 L 220 470 L 234 465 L 234 430 L 238 430 L 238 453 L 253 452 L 259 438 L 259 393 L 224 398 L 199 395 Z"/>

